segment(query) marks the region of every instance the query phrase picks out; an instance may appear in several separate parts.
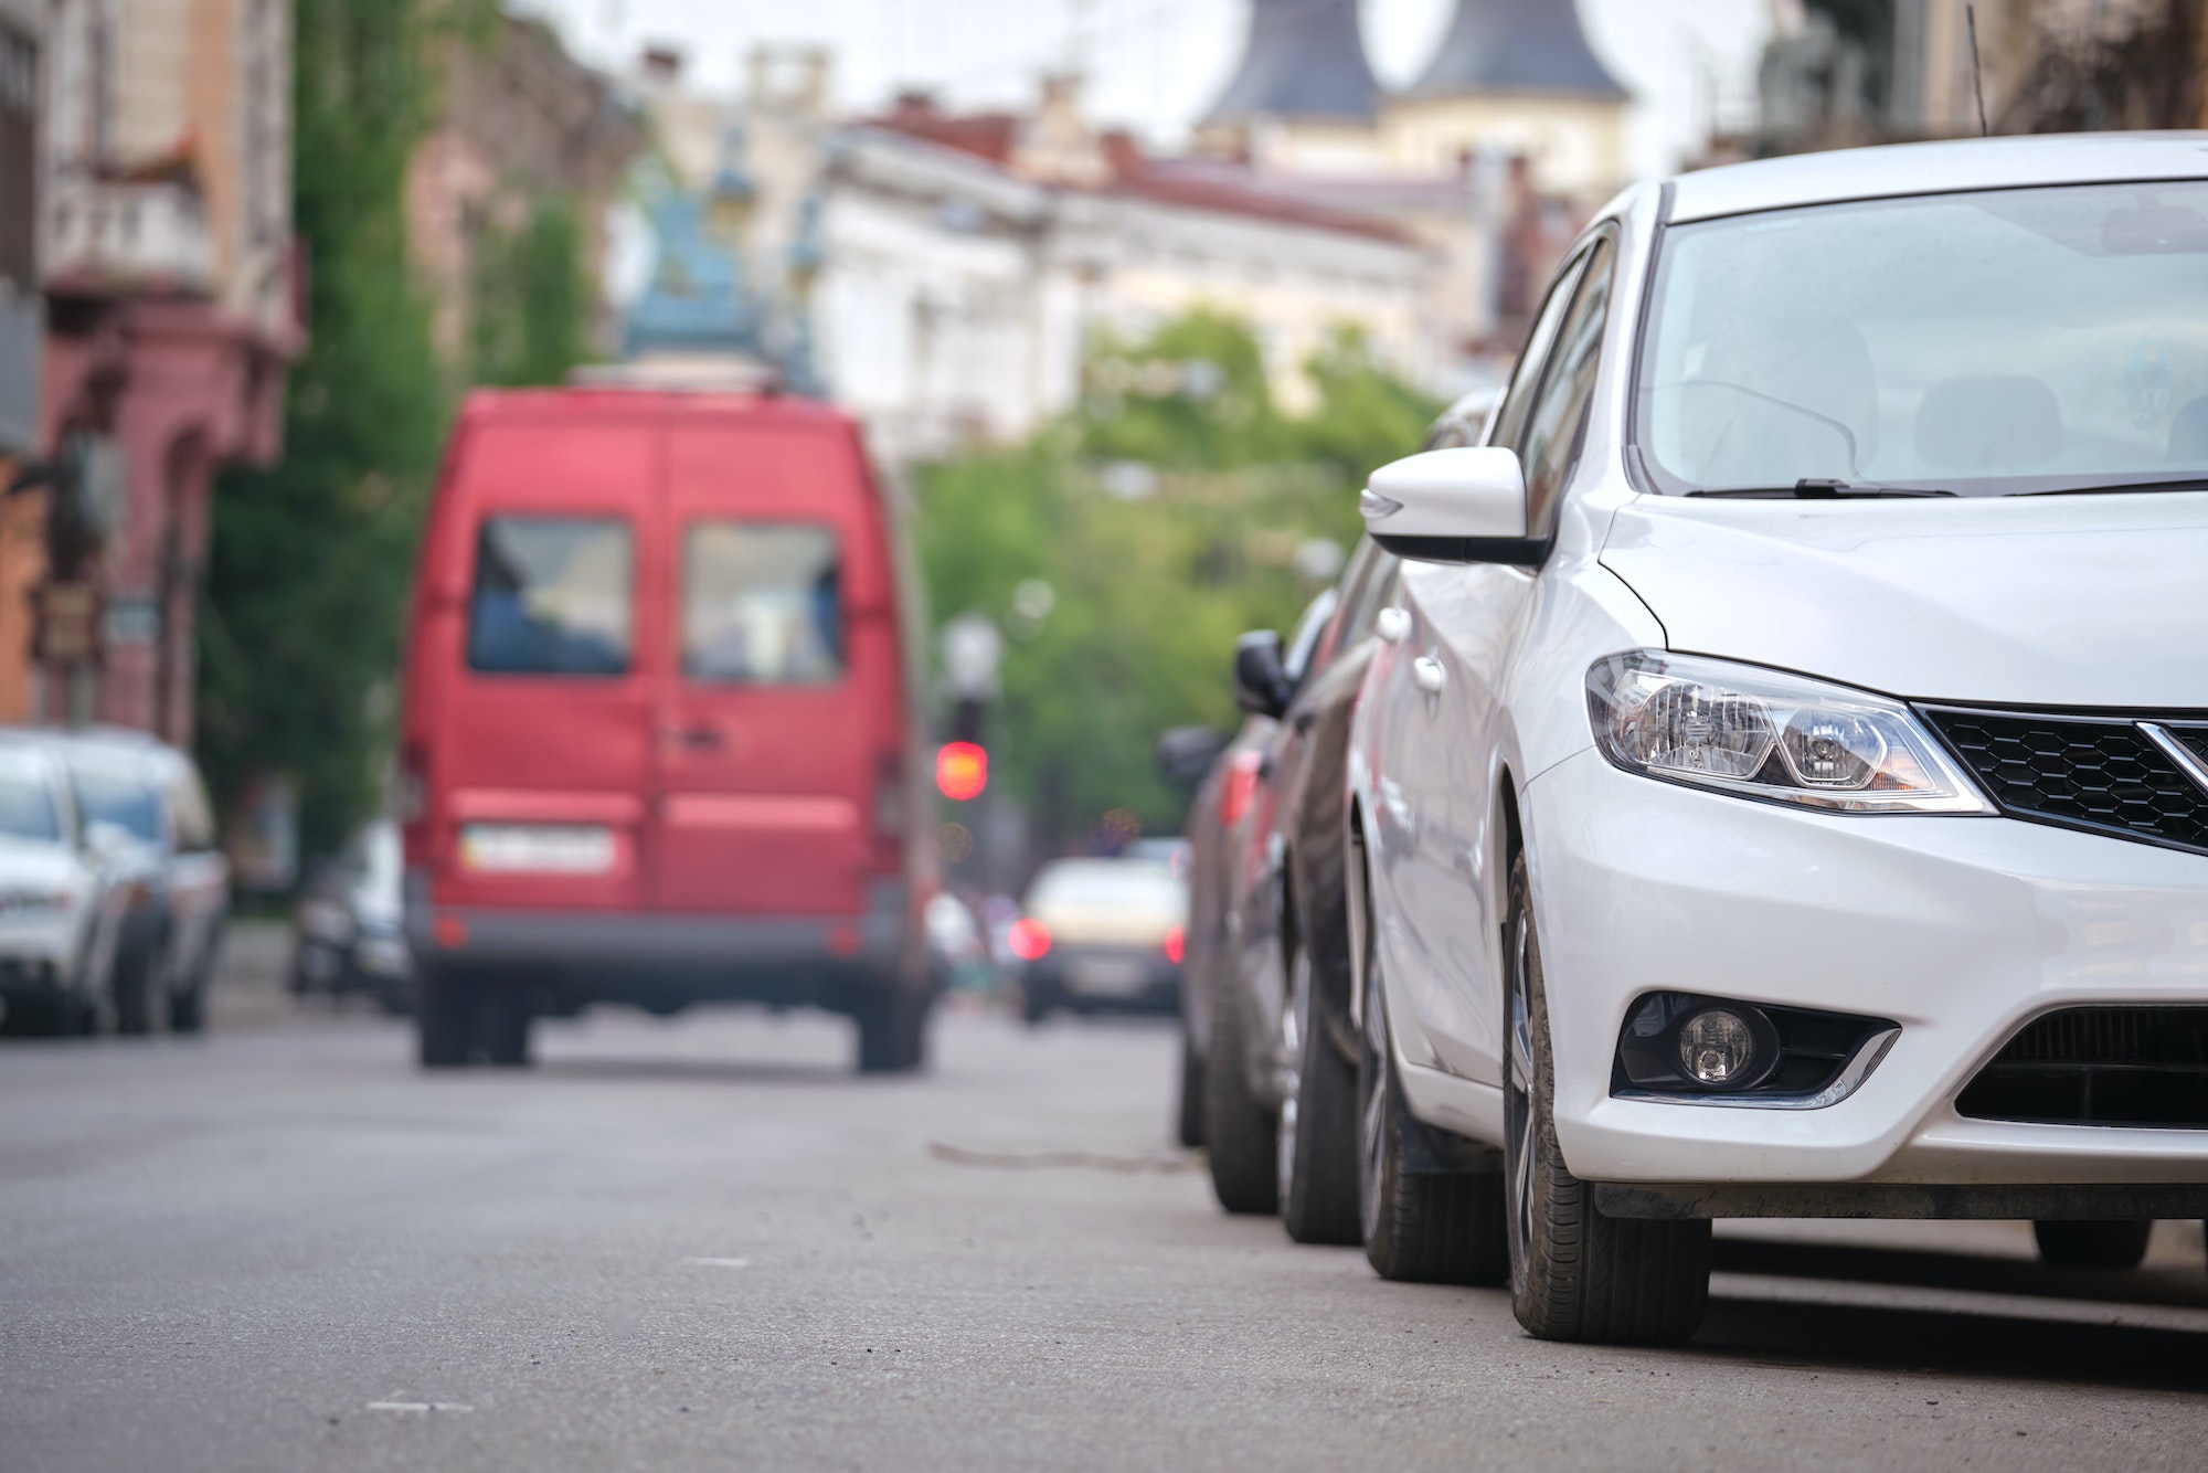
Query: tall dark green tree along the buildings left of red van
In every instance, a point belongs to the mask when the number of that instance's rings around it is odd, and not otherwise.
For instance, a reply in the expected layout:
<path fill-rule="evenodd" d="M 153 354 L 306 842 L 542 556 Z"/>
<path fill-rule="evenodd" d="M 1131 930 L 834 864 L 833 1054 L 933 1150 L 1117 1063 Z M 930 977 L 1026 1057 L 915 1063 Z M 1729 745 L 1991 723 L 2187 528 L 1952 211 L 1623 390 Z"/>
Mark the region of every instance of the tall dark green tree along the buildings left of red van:
<path fill-rule="evenodd" d="M 199 749 L 225 797 L 291 773 L 307 852 L 375 799 L 373 753 L 450 380 L 408 269 L 404 181 L 442 27 L 488 0 L 296 0 L 294 219 L 309 347 L 285 457 L 223 477 L 201 627 Z"/>

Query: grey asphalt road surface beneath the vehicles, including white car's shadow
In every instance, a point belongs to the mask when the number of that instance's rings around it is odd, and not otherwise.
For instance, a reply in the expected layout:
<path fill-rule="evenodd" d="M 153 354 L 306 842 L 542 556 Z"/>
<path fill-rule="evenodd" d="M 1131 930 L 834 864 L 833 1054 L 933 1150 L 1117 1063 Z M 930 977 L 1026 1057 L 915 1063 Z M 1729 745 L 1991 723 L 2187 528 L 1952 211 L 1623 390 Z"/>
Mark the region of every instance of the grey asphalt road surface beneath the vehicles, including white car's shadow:
<path fill-rule="evenodd" d="M 1166 1027 L 958 1014 L 885 1082 L 813 1016 L 457 1078 L 258 974 L 216 1022 L 0 1047 L 0 1469 L 2208 1462 L 2199 1223 L 1720 1228 L 1689 1347 L 1543 1345 L 1223 1217 Z"/>

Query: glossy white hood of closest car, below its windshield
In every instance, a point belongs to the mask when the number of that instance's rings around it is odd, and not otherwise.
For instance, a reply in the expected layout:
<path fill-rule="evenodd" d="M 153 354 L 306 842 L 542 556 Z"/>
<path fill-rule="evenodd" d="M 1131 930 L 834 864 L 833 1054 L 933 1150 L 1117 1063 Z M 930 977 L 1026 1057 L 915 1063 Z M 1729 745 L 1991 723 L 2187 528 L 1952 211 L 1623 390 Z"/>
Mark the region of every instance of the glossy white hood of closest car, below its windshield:
<path fill-rule="evenodd" d="M 2208 492 L 1636 497 L 1601 561 L 1676 651 L 1921 700 L 2208 709 Z"/>

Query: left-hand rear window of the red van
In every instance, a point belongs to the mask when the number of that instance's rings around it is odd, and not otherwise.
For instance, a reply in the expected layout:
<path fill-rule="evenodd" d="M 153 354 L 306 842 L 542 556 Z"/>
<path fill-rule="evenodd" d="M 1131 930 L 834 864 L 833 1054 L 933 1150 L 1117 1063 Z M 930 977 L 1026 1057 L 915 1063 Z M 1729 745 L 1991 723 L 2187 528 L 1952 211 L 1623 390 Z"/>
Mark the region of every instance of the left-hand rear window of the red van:
<path fill-rule="evenodd" d="M 475 543 L 468 669 L 627 674 L 634 563 L 616 517 L 490 517 Z"/>

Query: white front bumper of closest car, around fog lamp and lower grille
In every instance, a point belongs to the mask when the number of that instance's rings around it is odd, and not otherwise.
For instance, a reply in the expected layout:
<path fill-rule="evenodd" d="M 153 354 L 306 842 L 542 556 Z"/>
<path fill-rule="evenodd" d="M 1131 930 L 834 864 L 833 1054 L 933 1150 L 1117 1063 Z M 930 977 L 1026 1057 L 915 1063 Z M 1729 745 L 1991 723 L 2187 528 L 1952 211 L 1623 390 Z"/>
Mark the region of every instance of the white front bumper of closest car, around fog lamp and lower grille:
<path fill-rule="evenodd" d="M 1965 1120 L 2031 1016 L 2208 1003 L 2208 857 L 1992 817 L 1848 817 L 1654 782 L 1599 753 L 1526 786 L 1557 1137 L 1592 1181 L 2201 1184 L 2208 1128 Z M 1616 1100 L 1654 989 L 1892 1018 L 1815 1111 Z"/>

